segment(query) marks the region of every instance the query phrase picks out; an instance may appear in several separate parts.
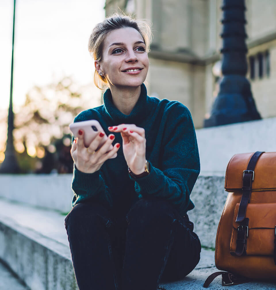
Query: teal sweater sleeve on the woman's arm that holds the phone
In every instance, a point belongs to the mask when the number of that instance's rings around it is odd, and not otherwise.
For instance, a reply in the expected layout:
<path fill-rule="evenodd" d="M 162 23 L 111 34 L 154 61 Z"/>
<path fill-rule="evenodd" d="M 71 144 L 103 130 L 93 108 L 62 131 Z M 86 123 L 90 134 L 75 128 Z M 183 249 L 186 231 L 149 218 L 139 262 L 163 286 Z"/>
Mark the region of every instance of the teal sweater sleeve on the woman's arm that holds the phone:
<path fill-rule="evenodd" d="M 83 111 L 74 119 L 74 122 L 89 119 L 92 119 L 92 117 L 87 114 L 87 111 Z M 74 142 L 74 139 L 73 136 L 72 142 Z M 72 206 L 87 200 L 97 200 L 107 208 L 112 207 L 111 194 L 101 176 L 101 169 L 94 173 L 84 173 L 79 171 L 74 164 L 72 190 L 74 191 Z"/>

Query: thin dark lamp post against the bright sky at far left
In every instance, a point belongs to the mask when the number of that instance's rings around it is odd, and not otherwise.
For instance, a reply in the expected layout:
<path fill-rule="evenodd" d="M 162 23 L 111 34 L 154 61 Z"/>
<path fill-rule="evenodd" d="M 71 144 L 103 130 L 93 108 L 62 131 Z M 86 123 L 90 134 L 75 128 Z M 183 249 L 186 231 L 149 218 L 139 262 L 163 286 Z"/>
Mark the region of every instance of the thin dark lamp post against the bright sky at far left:
<path fill-rule="evenodd" d="M 13 29 L 12 29 L 12 66 L 11 66 L 11 77 L 10 77 L 10 106 L 8 114 L 8 138 L 7 146 L 5 151 L 5 159 L 0 167 L 0 173 L 19 173 L 19 165 L 15 157 L 15 148 L 13 145 L 12 131 L 14 128 L 13 124 L 13 111 L 12 111 L 12 80 L 13 80 L 13 47 L 14 47 L 14 30 L 15 30 L 15 0 L 13 6 Z"/>

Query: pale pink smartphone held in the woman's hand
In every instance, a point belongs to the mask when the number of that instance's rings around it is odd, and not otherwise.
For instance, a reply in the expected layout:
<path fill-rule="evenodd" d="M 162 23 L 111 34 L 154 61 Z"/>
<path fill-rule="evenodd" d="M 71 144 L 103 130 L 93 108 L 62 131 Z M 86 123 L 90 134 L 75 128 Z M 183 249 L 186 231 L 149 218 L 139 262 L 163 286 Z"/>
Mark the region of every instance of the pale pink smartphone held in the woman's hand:
<path fill-rule="evenodd" d="M 101 127 L 100 123 L 97 120 L 88 120 L 88 121 L 81 121 L 81 122 L 75 122 L 71 123 L 69 125 L 69 128 L 71 132 L 74 134 L 74 136 L 78 136 L 78 131 L 83 130 L 84 132 L 84 146 L 89 147 L 91 142 L 96 138 L 96 136 L 102 132 L 105 134 L 105 131 L 103 131 L 103 128 Z M 105 134 L 101 140 L 101 143 L 99 144 L 99 148 L 105 143 L 107 140 L 107 135 Z M 110 145 L 109 150 L 107 152 L 111 151 L 113 149 L 113 145 Z M 115 158 L 117 156 L 117 153 L 115 153 L 111 158 Z"/>

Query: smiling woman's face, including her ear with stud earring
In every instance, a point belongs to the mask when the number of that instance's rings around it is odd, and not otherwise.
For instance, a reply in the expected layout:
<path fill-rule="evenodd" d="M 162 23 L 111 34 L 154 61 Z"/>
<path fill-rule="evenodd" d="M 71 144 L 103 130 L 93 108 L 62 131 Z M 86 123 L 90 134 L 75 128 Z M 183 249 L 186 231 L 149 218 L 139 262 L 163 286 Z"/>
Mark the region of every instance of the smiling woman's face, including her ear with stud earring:
<path fill-rule="evenodd" d="M 103 57 L 95 61 L 110 86 L 118 88 L 138 87 L 148 73 L 148 54 L 140 33 L 131 27 L 112 30 L 105 37 Z"/>

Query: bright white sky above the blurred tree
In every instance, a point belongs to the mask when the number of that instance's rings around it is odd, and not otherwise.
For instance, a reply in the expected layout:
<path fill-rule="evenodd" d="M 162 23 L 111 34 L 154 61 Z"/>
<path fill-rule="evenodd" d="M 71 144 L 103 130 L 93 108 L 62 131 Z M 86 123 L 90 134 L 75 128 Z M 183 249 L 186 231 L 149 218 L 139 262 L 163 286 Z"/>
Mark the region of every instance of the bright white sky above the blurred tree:
<path fill-rule="evenodd" d="M 87 43 L 94 25 L 105 17 L 105 0 L 17 0 L 13 103 L 24 103 L 34 85 L 72 76 L 91 83 L 94 64 Z M 8 108 L 12 53 L 13 1 L 0 4 L 0 110 Z"/>

